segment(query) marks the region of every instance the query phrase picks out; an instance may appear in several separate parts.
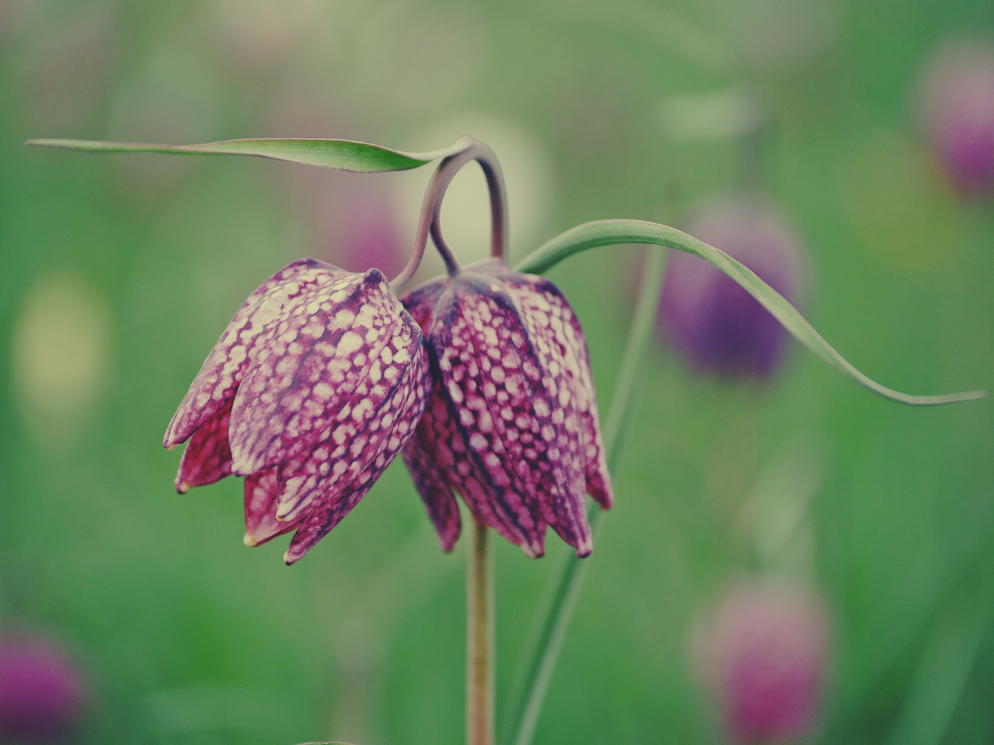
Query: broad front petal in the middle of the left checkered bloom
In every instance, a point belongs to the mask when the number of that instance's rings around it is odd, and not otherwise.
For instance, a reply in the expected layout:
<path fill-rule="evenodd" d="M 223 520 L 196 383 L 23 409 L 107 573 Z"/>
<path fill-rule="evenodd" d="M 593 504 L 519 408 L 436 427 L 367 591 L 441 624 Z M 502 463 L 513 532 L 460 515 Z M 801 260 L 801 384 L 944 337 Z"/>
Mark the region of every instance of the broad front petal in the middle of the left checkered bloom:
<path fill-rule="evenodd" d="M 260 340 L 232 410 L 235 473 L 291 461 L 324 442 L 347 445 L 410 365 L 421 333 L 386 277 L 379 269 L 347 277 Z"/>

